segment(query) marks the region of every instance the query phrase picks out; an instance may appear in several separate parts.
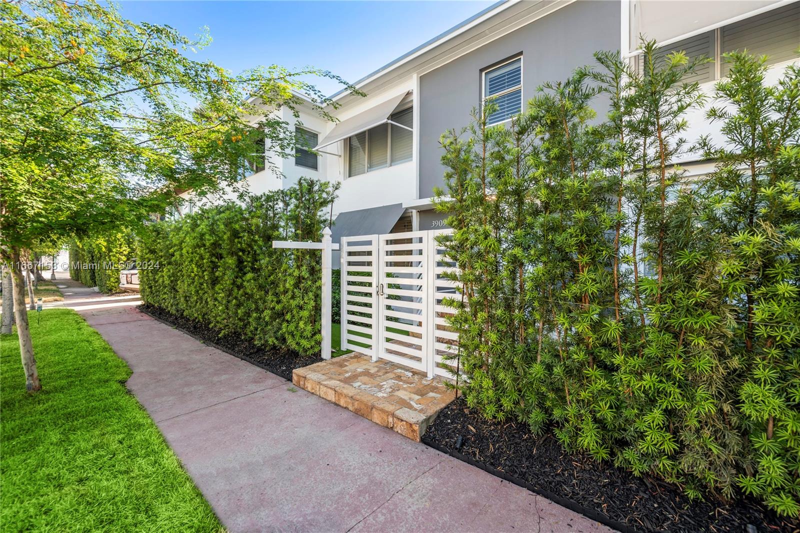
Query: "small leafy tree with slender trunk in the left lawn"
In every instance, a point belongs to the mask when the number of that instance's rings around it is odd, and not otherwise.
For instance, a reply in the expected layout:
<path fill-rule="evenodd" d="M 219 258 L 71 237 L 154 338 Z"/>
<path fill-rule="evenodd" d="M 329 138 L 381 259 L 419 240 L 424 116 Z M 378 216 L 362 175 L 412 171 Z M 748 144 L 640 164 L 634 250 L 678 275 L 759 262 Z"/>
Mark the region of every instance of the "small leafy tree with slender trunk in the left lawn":
<path fill-rule="evenodd" d="M 297 91 L 328 117 L 323 107 L 333 102 L 302 79 L 341 80 L 279 66 L 234 76 L 188 57 L 207 36 L 130 22 L 99 2 L 2 2 L 0 17 L 0 245 L 14 280 L 26 387 L 38 391 L 24 308 L 27 250 L 134 227 L 162 212 L 175 190 L 242 190 L 242 163 L 265 140 L 280 156 L 294 154 L 296 142 L 278 118 L 250 125 L 244 117 L 264 116 L 259 105 L 295 109 Z"/>

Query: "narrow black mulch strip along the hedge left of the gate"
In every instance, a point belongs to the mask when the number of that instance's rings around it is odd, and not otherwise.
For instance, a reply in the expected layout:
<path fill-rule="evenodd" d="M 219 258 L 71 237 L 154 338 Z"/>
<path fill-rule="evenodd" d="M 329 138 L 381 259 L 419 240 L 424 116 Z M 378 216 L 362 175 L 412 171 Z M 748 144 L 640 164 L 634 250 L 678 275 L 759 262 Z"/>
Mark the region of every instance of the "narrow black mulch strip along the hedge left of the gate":
<path fill-rule="evenodd" d="M 202 340 L 202 342 L 209 346 L 218 348 L 227 354 L 234 355 L 234 357 L 238 357 L 266 371 L 270 371 L 288 381 L 292 380 L 292 371 L 294 371 L 295 368 L 307 367 L 310 364 L 322 361 L 322 358 L 318 355 L 306 357 L 286 349 L 266 351 L 264 348 L 254 345 L 254 343 L 247 339 L 242 339 L 234 335 L 219 335 L 218 331 L 205 324 L 187 319 L 183 316 L 173 315 L 160 307 L 142 304 L 138 308 L 154 319 L 174 326 L 187 335 Z"/>

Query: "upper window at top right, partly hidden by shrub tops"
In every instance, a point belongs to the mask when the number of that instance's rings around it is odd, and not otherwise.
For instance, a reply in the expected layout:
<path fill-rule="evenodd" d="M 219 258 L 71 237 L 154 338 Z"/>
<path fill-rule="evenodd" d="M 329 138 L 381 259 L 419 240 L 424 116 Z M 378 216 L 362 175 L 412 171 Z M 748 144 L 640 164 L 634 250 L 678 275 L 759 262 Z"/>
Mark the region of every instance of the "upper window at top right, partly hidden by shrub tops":
<path fill-rule="evenodd" d="M 797 58 L 800 46 L 800 2 L 710 30 L 673 44 L 662 46 L 655 54 L 662 62 L 667 54 L 683 51 L 690 61 L 705 56 L 713 63 L 699 65 L 684 82 L 711 82 L 726 76 L 730 62 L 722 58 L 728 52 L 747 50 L 755 56 L 766 55 L 767 65 Z M 638 70 L 644 68 L 644 57 L 638 56 Z"/>

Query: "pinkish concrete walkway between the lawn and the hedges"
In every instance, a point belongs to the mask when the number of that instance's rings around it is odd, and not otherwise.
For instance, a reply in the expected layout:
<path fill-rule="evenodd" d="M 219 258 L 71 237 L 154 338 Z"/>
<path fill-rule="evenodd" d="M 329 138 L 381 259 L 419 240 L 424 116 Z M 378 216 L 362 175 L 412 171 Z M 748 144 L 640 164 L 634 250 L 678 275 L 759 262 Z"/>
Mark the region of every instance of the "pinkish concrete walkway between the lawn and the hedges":
<path fill-rule="evenodd" d="M 229 531 L 611 531 L 206 347 L 135 296 L 58 284 Z"/>

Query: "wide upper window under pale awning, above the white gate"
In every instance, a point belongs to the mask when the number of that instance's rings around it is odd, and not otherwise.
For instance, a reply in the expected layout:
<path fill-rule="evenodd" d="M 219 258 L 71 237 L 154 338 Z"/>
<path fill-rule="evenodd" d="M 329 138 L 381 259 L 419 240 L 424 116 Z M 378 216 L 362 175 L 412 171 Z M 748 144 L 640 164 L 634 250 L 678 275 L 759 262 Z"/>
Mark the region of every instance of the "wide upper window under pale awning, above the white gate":
<path fill-rule="evenodd" d="M 413 126 L 414 109 L 407 107 L 392 114 L 388 123 L 348 138 L 347 175 L 358 176 L 410 161 L 414 157 L 414 133 L 406 128 Z"/>

